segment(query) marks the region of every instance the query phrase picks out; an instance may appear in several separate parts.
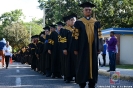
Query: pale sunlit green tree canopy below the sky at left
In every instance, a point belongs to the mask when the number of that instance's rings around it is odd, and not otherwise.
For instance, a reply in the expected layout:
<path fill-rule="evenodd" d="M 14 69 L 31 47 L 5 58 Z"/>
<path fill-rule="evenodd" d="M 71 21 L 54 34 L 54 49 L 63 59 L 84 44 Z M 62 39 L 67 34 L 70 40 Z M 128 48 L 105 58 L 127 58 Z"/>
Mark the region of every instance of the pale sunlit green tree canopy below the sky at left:
<path fill-rule="evenodd" d="M 42 19 L 32 19 L 31 22 L 23 22 L 22 10 L 14 10 L 3 13 L 0 16 L 0 39 L 5 38 L 13 49 L 18 50 L 30 43 L 31 36 L 38 35 L 42 31 Z"/>

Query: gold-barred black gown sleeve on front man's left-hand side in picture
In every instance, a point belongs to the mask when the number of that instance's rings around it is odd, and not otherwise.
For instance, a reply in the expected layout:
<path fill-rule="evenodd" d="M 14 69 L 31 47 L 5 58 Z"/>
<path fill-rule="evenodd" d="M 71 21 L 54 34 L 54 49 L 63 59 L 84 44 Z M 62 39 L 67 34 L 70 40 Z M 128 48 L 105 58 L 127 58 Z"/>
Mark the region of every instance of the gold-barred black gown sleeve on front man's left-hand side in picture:
<path fill-rule="evenodd" d="M 74 24 L 74 31 L 72 34 L 73 37 L 73 44 L 74 44 L 74 51 L 78 51 L 78 46 L 79 46 L 79 30 L 81 29 L 81 21 L 76 21 Z"/>

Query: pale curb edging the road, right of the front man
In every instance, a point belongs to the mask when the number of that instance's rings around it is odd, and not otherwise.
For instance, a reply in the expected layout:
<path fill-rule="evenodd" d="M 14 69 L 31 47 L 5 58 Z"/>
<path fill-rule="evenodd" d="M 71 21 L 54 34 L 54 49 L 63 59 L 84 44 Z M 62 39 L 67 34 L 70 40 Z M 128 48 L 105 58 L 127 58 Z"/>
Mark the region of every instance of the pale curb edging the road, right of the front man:
<path fill-rule="evenodd" d="M 110 73 L 106 72 L 104 70 L 98 70 L 98 74 L 104 75 L 104 76 L 110 76 Z M 133 82 L 133 76 L 127 76 L 127 75 L 121 75 L 120 74 L 120 79 Z"/>

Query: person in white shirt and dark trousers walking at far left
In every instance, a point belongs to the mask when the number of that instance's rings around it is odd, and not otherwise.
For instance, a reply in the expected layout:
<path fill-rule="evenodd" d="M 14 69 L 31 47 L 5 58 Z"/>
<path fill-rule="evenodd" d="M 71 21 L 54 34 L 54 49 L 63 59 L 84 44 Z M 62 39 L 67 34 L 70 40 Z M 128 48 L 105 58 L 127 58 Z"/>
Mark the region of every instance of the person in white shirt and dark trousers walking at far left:
<path fill-rule="evenodd" d="M 9 42 L 6 42 L 6 46 L 3 48 L 4 54 L 5 54 L 5 63 L 6 63 L 6 69 L 8 68 L 9 59 L 12 52 L 12 47 L 9 45 Z"/>

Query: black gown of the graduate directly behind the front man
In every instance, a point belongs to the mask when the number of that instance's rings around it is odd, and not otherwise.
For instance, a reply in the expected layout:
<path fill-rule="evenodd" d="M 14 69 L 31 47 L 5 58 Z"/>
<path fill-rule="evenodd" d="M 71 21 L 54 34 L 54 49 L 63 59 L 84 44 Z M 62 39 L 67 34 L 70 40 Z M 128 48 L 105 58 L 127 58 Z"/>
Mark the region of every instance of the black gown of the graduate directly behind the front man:
<path fill-rule="evenodd" d="M 66 41 L 62 42 L 63 50 L 67 50 L 68 55 L 63 55 L 64 59 L 64 76 L 66 78 L 74 77 L 76 74 L 76 55 L 74 55 L 73 43 L 72 43 L 72 30 L 64 29 L 61 35 L 62 38 L 66 38 Z M 71 80 L 71 79 L 70 79 Z"/>

